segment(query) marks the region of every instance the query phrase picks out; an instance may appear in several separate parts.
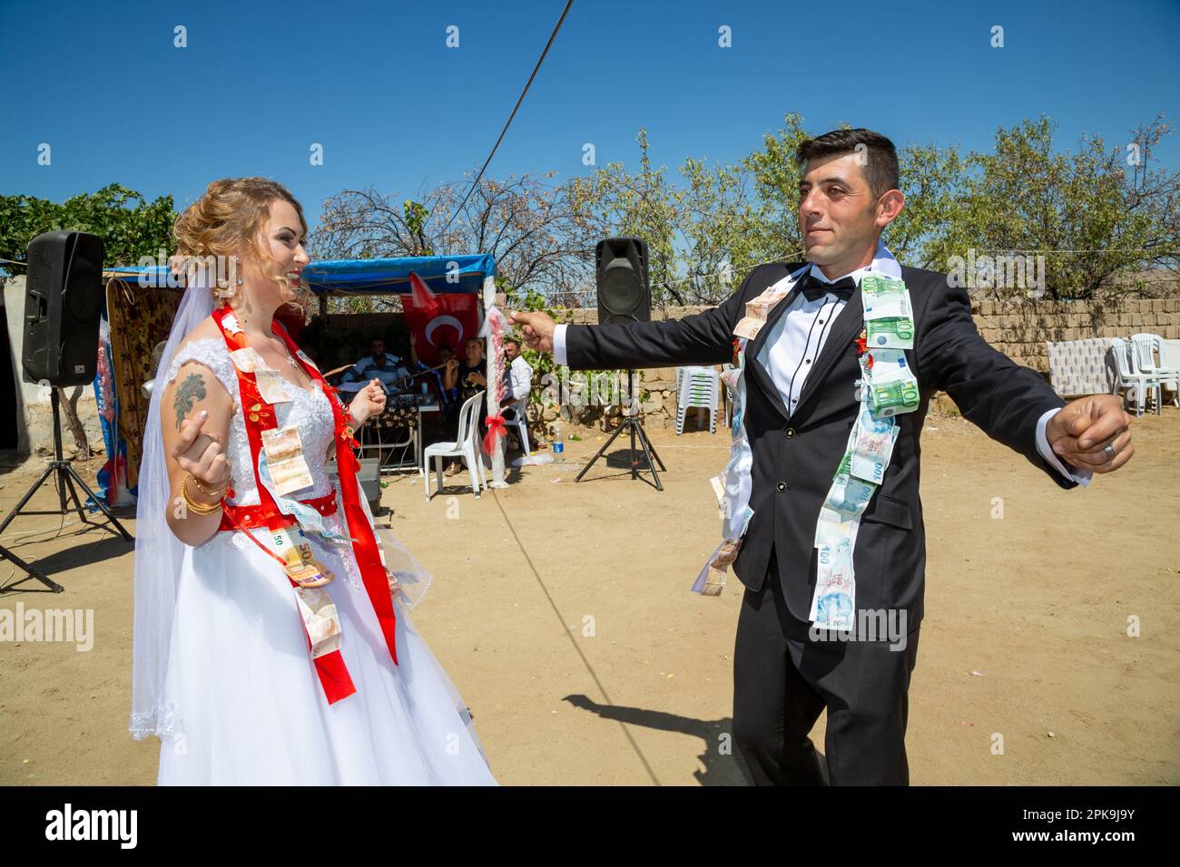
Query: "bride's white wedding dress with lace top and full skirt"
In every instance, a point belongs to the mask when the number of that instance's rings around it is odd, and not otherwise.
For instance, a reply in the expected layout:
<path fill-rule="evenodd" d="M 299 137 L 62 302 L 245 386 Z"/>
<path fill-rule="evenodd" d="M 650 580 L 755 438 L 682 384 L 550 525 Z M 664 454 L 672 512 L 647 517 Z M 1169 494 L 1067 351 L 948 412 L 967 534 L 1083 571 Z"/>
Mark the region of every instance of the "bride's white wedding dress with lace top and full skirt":
<path fill-rule="evenodd" d="M 190 360 L 210 368 L 234 399 L 231 503 L 257 505 L 229 350 L 221 339 L 191 341 L 162 382 Z M 275 405 L 278 426 L 299 426 L 314 480 L 295 495 L 322 497 L 332 490 L 332 407 L 319 386 L 283 383 L 291 399 Z M 339 493 L 336 513 L 324 520 L 347 537 Z M 182 711 L 170 721 L 177 734 L 162 738 L 158 783 L 496 784 L 466 707 L 405 606 L 395 599 L 394 665 L 347 538 L 308 538 L 335 574 L 323 590 L 336 606 L 356 692 L 327 703 L 290 582 L 257 545 L 238 531 L 186 546 L 164 689 L 164 701 Z"/>

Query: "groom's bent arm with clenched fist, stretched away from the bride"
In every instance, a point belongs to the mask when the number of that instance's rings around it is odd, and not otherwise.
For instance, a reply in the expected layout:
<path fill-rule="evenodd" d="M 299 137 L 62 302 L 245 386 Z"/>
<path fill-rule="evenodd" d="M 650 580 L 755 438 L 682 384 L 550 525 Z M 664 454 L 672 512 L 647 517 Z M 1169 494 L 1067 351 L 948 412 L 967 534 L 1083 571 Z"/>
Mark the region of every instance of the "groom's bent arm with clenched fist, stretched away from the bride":
<path fill-rule="evenodd" d="M 966 290 L 926 272 L 931 291 L 914 341 L 919 382 L 945 390 L 963 418 L 1020 452 L 1062 487 L 1088 482 L 1132 455 L 1130 416 L 1113 395 L 1066 403 L 1044 379 L 994 349 L 971 318 Z M 1114 458 L 1103 454 L 1110 445 Z M 1068 466 L 1066 466 L 1068 465 Z"/>

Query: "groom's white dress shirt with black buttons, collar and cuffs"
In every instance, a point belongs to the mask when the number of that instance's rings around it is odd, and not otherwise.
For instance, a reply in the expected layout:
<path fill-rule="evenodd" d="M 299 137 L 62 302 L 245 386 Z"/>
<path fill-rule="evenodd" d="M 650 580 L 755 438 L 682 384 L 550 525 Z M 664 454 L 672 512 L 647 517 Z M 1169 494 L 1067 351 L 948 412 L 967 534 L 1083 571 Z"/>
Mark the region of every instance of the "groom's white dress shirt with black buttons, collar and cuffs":
<path fill-rule="evenodd" d="M 808 269 L 811 269 L 818 280 L 825 283 L 838 282 L 828 280 L 815 265 L 808 265 L 781 281 L 781 285 L 785 288 L 793 284 L 795 280 L 806 277 Z M 884 244 L 878 245 L 871 265 L 858 268 L 844 276 L 852 277 L 857 282 L 857 285 L 859 285 L 860 278 L 870 270 L 890 275 L 896 271 L 898 278 L 902 276 L 900 267 L 889 250 L 885 249 Z M 789 412 L 794 412 L 799 402 L 799 395 L 802 394 L 804 383 L 807 381 L 807 374 L 824 348 L 824 342 L 832 330 L 832 323 L 846 304 L 847 302 L 844 298 L 833 293 L 815 301 L 808 301 L 807 296 L 800 293 L 766 335 L 766 341 L 762 343 L 758 360 L 766 368 L 767 373 L 771 374 L 771 379 L 774 381 L 774 385 L 779 389 L 779 395 L 782 398 L 782 403 Z M 553 361 L 558 364 L 566 363 L 566 327 L 565 324 L 557 326 L 553 331 Z M 1061 410 L 1049 409 L 1037 421 L 1036 449 L 1049 466 L 1066 478 L 1073 479 L 1079 485 L 1086 487 L 1089 485 L 1093 473 L 1089 469 L 1077 469 L 1067 466 L 1049 446 L 1045 427 L 1049 423 L 1049 419 L 1058 412 Z"/>

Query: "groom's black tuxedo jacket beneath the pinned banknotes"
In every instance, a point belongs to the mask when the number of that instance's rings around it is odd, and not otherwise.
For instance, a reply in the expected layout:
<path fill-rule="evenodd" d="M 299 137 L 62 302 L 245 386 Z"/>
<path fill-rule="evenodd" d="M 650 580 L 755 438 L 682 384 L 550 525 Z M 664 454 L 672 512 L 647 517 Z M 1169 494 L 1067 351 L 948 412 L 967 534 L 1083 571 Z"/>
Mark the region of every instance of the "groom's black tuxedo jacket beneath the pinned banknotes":
<path fill-rule="evenodd" d="M 570 326 L 566 361 L 573 369 L 730 361 L 733 329 L 745 314 L 746 301 L 804 264 L 760 265 L 720 307 L 682 320 Z M 964 289 L 949 285 L 943 274 L 917 268 L 903 267 L 902 277 L 910 290 L 916 328 L 906 360 L 918 377 L 922 403 L 897 416 L 900 432 L 892 461 L 861 518 L 853 557 L 857 609 L 904 609 L 912 630 L 923 616 L 926 563 L 918 495 L 919 439 L 935 392 L 950 394 L 965 419 L 1023 454 L 1062 487 L 1076 482 L 1049 466 L 1036 449 L 1037 420 L 1064 401 L 1040 374 L 984 341 Z M 799 403 L 789 413 L 758 354 L 794 297 L 792 291 L 771 310 L 766 326 L 746 347 L 745 425 L 754 452 L 749 503 L 754 517 L 734 572 L 747 587 L 761 589 L 773 551 L 788 609 L 806 622 L 815 587 L 815 524 L 859 407 L 853 382 L 860 375 L 856 339 L 864 328 L 864 307 L 857 289 L 833 322 Z M 702 539 L 701 551 L 712 550 L 715 541 Z"/>

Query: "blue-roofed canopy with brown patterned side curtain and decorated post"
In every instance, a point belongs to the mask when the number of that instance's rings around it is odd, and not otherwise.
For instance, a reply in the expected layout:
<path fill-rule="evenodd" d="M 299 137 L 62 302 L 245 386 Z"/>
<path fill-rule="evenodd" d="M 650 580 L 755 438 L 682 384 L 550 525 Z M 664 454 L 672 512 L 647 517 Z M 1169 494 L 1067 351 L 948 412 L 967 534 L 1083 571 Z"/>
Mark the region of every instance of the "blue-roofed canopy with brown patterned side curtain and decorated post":
<path fill-rule="evenodd" d="M 489 367 L 498 370 L 503 329 L 490 327 L 489 322 L 503 323 L 503 315 L 494 310 L 496 260 L 492 256 L 324 260 L 303 269 L 303 282 L 320 297 L 409 295 L 411 271 L 437 295 L 474 295 L 477 304 L 483 302 L 481 333 L 491 342 Z M 151 368 L 152 349 L 168 337 L 184 280 L 183 275 L 179 278 L 172 275 L 168 265 L 104 268 L 103 278 L 106 281 L 104 320 L 109 324 L 103 329 L 100 353 L 110 363 L 99 366 L 94 389 L 100 406 L 109 407 L 103 427 L 110 460 L 99 473 L 99 485 L 106 487 L 109 481 L 117 481 L 117 487 L 133 488 L 148 419 L 148 400 L 140 387 L 156 373 Z M 489 369 L 489 381 L 498 381 L 492 374 Z M 498 412 L 498 395 L 489 395 L 489 413 Z M 499 480 L 503 478 L 503 438 L 494 452 L 493 477 Z M 113 500 L 116 495 L 109 491 L 106 498 Z"/>

